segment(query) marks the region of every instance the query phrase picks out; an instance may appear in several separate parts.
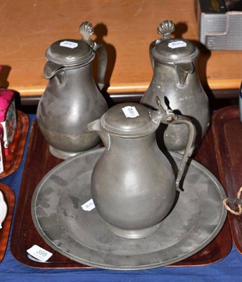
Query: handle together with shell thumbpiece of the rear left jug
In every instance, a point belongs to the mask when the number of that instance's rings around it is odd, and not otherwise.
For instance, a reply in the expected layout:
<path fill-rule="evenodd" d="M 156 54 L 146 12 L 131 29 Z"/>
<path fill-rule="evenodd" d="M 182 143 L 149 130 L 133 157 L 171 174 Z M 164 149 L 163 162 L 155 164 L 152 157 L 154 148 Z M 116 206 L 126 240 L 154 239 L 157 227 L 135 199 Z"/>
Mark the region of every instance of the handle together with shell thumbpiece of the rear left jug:
<path fill-rule="evenodd" d="M 98 87 L 103 90 L 105 85 L 105 75 L 108 65 L 108 52 L 103 44 L 95 42 L 91 39 L 91 35 L 94 34 L 94 27 L 89 22 L 83 22 L 79 26 L 79 33 L 83 36 L 82 40 L 89 44 L 89 46 L 96 52 L 98 51 Z"/>

